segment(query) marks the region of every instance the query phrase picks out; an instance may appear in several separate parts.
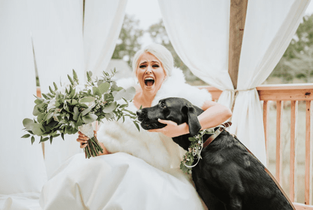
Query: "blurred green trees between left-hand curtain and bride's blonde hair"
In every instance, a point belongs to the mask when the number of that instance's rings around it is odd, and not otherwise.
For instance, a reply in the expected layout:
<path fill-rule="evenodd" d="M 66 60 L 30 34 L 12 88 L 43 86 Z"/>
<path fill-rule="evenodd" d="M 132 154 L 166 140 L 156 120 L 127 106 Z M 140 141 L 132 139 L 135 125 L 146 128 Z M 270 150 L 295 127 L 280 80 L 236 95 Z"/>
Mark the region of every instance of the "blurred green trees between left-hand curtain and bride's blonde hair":
<path fill-rule="evenodd" d="M 139 20 L 126 14 L 112 59 L 124 59 L 130 65 L 133 56 L 141 48 L 139 40 L 142 35 L 143 30 L 139 29 Z"/>

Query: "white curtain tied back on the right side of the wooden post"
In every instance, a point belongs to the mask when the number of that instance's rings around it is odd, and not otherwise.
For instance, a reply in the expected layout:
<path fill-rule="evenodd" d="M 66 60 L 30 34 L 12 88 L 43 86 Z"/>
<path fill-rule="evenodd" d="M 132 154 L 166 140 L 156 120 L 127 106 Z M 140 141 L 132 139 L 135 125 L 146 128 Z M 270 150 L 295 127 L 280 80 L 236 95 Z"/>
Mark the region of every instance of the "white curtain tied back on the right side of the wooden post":
<path fill-rule="evenodd" d="M 230 132 L 236 133 L 263 163 L 266 155 L 262 107 L 255 87 L 266 80 L 282 57 L 309 2 L 248 2 L 238 72 L 239 92 Z"/>

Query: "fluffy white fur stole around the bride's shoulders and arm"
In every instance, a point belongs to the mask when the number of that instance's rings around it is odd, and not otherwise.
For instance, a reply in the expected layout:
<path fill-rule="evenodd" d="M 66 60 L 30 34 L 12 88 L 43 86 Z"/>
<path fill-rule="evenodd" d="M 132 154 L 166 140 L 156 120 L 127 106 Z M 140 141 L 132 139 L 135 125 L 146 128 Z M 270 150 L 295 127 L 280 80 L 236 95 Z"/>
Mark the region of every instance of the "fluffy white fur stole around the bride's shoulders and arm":
<path fill-rule="evenodd" d="M 133 78 L 121 79 L 117 85 L 123 88 L 135 86 Z M 158 104 L 159 100 L 168 97 L 186 98 L 192 104 L 201 108 L 207 100 L 212 100 L 211 94 L 206 90 L 200 90 L 186 84 L 182 70 L 175 68 L 172 76 L 168 77 L 162 84 L 158 93 L 152 101 L 152 106 Z M 130 103 L 127 107 L 135 112 L 136 107 Z M 179 167 L 184 150 L 173 142 L 172 138 L 162 133 L 152 133 L 136 129 L 130 119 L 125 118 L 117 122 L 104 121 L 98 131 L 98 140 L 110 152 L 126 152 L 143 159 L 147 163 L 164 171 Z"/>

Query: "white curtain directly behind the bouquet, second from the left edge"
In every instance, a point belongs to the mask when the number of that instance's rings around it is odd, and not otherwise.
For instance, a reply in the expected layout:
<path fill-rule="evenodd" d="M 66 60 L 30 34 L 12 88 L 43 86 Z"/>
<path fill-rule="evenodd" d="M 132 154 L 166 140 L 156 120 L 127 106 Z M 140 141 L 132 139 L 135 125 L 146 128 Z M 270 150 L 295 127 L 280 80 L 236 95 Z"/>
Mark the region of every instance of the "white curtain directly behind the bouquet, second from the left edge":
<path fill-rule="evenodd" d="M 55 82 L 69 82 L 74 69 L 80 82 L 84 82 L 83 55 L 83 1 L 29 0 L 30 32 L 42 93 L 49 92 Z M 31 115 L 29 116 L 31 117 Z M 81 149 L 77 135 L 65 135 L 45 142 L 45 163 L 48 178 L 69 157 Z M 39 138 L 38 138 L 39 139 Z"/>

